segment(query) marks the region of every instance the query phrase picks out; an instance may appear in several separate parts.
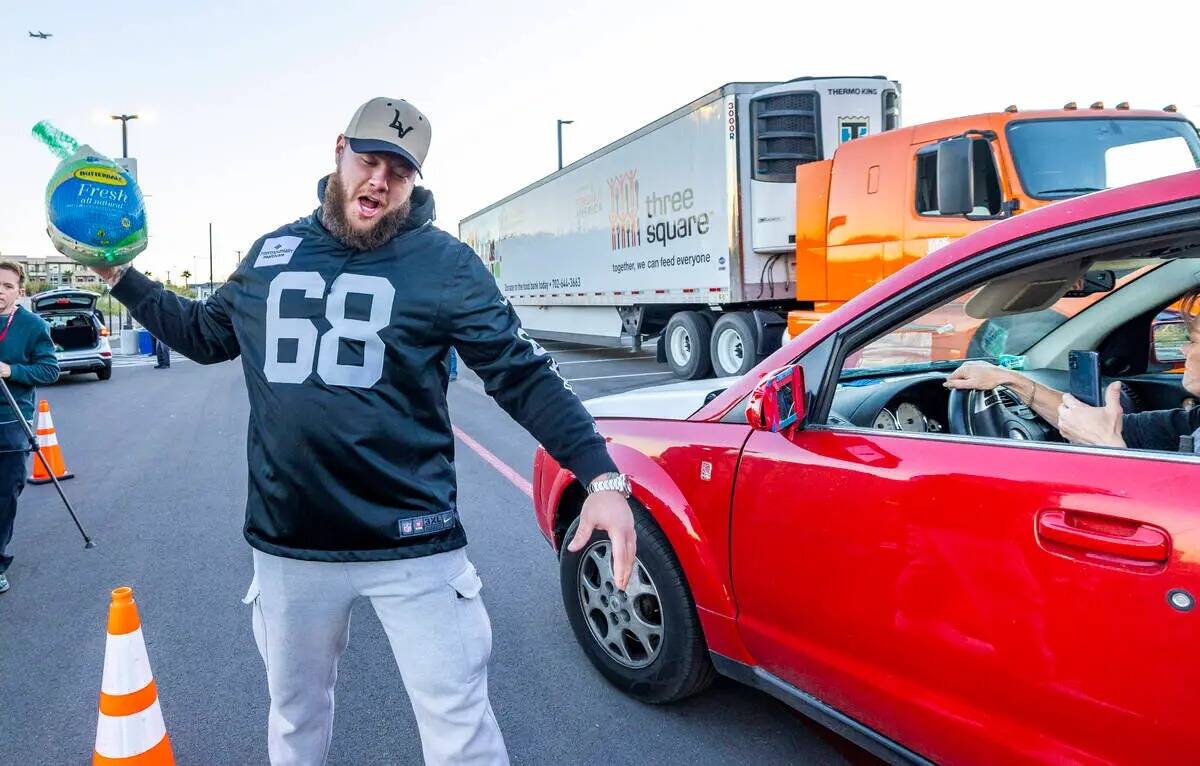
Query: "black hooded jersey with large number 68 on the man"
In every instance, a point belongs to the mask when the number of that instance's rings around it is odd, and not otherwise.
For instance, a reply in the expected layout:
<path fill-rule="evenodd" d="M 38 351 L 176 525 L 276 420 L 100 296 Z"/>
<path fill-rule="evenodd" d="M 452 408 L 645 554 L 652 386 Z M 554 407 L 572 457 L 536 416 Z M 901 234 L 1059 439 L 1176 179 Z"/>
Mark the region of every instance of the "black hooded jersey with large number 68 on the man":
<path fill-rule="evenodd" d="M 432 193 L 415 188 L 402 231 L 366 252 L 330 235 L 318 213 L 256 241 L 208 300 L 133 269 L 113 288 L 190 359 L 241 355 L 251 545 L 313 561 L 466 545 L 446 409 L 450 346 L 581 481 L 616 471 L 592 417 L 482 262 L 433 227 Z"/>

